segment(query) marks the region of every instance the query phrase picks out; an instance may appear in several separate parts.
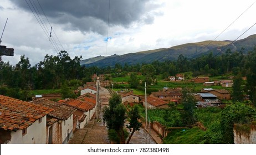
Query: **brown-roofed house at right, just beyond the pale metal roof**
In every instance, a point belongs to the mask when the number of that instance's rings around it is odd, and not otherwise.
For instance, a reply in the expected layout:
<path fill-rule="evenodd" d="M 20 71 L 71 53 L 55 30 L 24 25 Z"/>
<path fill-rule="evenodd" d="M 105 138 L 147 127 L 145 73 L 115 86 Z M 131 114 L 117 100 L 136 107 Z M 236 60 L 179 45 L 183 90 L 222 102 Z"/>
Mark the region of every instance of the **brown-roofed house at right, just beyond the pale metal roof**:
<path fill-rule="evenodd" d="M 226 89 L 209 89 L 204 88 L 201 90 L 202 93 L 209 92 L 215 96 L 217 96 L 217 99 L 220 100 L 231 100 L 231 93 Z"/>

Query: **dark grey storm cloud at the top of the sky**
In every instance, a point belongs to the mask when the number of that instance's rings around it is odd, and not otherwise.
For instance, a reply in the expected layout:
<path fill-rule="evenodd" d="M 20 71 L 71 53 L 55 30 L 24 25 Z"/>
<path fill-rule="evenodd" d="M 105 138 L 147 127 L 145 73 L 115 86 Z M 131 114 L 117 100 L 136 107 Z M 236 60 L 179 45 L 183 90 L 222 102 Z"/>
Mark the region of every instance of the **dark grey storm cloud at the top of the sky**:
<path fill-rule="evenodd" d="M 11 1 L 31 12 L 26 1 Z M 32 2 L 40 8 L 38 1 L 47 17 L 51 19 L 50 22 L 64 24 L 65 29 L 68 30 L 93 31 L 100 34 L 106 33 L 108 20 L 110 26 L 129 27 L 132 22 L 137 21 L 151 24 L 154 14 L 149 12 L 159 7 L 150 4 L 149 0 L 110 0 L 110 18 L 108 18 L 108 0 L 27 0 L 29 4 Z"/>

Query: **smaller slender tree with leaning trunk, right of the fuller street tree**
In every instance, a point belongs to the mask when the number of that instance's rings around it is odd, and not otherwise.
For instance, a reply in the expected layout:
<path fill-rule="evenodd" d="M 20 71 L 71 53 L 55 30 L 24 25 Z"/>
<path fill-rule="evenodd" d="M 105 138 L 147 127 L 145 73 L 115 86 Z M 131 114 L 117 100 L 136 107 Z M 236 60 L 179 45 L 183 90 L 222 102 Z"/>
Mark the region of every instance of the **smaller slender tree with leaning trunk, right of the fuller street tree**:
<path fill-rule="evenodd" d="M 132 135 L 134 135 L 134 132 L 139 131 L 140 127 L 142 126 L 142 123 L 138 121 L 141 118 L 139 106 L 132 107 L 128 115 L 129 115 L 130 121 L 129 121 L 129 124 L 126 125 L 126 127 L 130 129 L 131 135 L 129 136 L 126 142 L 127 144 L 129 144 Z"/>

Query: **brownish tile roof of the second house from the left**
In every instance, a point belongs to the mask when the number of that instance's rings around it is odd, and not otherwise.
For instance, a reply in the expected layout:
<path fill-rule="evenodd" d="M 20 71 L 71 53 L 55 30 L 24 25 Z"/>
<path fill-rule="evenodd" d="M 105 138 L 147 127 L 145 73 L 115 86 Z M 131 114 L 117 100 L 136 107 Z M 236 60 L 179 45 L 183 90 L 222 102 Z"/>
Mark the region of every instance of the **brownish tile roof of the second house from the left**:
<path fill-rule="evenodd" d="M 49 116 L 58 118 L 60 120 L 68 120 L 68 118 L 76 111 L 75 108 L 65 106 L 62 104 L 57 104 L 57 102 L 50 101 L 48 99 L 38 99 L 32 101 L 34 104 L 43 105 L 45 107 L 52 108 L 53 111 L 48 113 Z"/>

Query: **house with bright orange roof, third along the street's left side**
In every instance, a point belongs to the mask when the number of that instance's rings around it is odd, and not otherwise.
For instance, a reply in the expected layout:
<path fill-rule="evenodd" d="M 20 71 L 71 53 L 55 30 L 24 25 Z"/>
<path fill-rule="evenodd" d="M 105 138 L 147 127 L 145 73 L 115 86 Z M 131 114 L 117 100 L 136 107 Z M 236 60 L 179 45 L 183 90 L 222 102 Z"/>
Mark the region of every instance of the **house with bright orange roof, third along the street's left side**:
<path fill-rule="evenodd" d="M 73 121 L 76 121 L 75 128 L 84 128 L 93 118 L 96 111 L 96 100 L 94 100 L 95 102 L 92 101 L 87 97 L 62 101 L 62 104 L 76 108 L 76 111 L 73 113 Z"/>

